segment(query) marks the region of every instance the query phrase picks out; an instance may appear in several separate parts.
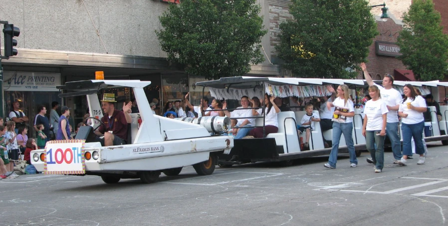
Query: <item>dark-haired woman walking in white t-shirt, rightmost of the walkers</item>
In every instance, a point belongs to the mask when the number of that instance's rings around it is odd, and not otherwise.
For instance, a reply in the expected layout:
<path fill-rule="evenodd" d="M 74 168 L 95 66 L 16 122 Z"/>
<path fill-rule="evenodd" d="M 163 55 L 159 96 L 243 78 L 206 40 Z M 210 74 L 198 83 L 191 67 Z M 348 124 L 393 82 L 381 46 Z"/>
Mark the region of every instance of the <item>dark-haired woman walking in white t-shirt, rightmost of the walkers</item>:
<path fill-rule="evenodd" d="M 416 154 L 420 155 L 417 164 L 425 164 L 425 148 L 422 142 L 425 119 L 423 113 L 427 111 L 426 101 L 418 96 L 411 84 L 403 87 L 405 98 L 400 103 L 398 115 L 401 117 L 401 129 L 403 132 L 403 157 L 399 165 L 406 165 L 408 155 L 412 155 L 411 138 L 414 138 Z"/>

